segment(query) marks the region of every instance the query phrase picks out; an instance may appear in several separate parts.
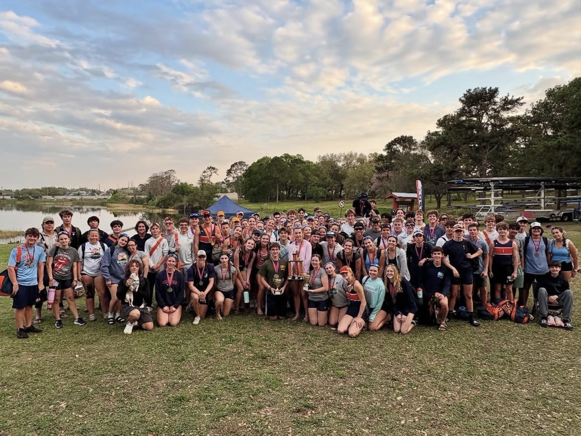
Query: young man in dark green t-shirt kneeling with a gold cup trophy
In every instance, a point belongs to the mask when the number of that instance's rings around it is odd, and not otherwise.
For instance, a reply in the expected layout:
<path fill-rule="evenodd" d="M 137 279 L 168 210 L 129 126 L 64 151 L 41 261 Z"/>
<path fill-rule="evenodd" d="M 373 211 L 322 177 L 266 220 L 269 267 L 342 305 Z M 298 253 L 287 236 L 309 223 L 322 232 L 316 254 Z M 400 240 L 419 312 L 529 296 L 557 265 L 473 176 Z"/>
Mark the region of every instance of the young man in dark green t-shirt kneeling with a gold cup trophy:
<path fill-rule="evenodd" d="M 279 258 L 278 242 L 270 245 L 270 259 L 258 271 L 260 284 L 266 290 L 266 317 L 268 320 L 285 319 L 288 262 Z"/>

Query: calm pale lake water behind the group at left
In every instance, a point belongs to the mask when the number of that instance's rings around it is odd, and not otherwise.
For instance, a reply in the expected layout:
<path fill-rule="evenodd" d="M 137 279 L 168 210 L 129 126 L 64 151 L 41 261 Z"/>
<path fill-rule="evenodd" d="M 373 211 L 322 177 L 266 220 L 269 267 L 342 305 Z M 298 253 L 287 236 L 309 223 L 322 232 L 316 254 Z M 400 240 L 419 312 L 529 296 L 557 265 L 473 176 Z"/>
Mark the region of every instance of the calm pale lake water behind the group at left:
<path fill-rule="evenodd" d="M 42 203 L 9 203 L 0 205 L 0 230 L 20 230 L 24 231 L 30 227 L 37 227 L 41 230 L 42 219 L 45 216 L 52 216 L 55 219 L 55 226 L 61 223 L 59 212 L 62 209 L 69 209 L 73 212 L 73 225 L 79 227 L 81 231 L 88 230 L 87 219 L 89 216 L 99 217 L 99 227 L 110 232 L 109 223 L 113 220 L 123 221 L 123 227 L 134 227 L 138 220 L 145 220 L 150 223 L 152 220 L 163 219 L 162 216 L 143 210 L 141 212 L 108 210 L 105 206 L 59 206 Z M 134 230 L 128 234 L 135 233 Z M 0 244 L 8 242 L 22 241 L 23 237 L 1 239 Z"/>

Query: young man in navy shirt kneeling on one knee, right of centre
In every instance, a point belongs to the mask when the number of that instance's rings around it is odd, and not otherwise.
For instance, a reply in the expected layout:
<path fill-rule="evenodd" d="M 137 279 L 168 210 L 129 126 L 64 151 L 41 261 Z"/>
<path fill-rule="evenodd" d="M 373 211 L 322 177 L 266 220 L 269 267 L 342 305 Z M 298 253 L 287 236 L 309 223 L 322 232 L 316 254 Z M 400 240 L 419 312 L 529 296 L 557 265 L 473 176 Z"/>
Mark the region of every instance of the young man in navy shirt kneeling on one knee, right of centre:
<path fill-rule="evenodd" d="M 440 319 L 438 330 L 448 330 L 446 327 L 446 318 L 448 316 L 448 294 L 451 286 L 450 269 L 443 265 L 442 248 L 435 246 L 432 249 L 432 262 L 424 263 L 421 272 L 421 287 L 424 293 L 424 310 L 422 315 L 428 314 L 429 305 L 432 304 L 433 310 L 436 306 L 439 308 Z"/>

